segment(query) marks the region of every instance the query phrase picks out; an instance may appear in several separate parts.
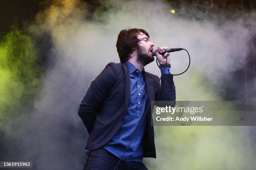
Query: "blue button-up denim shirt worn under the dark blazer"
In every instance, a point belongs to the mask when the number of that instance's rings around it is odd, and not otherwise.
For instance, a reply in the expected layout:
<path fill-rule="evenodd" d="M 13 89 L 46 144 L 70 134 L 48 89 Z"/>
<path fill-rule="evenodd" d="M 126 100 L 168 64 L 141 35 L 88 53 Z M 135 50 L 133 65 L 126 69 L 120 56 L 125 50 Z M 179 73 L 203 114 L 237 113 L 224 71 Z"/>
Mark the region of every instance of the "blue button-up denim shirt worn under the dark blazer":
<path fill-rule="evenodd" d="M 140 72 L 135 65 L 126 61 L 130 75 L 130 101 L 127 114 L 123 124 L 113 138 L 106 143 L 103 148 L 113 153 L 118 158 L 122 158 L 126 147 L 133 138 L 133 135 L 142 121 L 136 136 L 126 151 L 122 160 L 124 161 L 143 161 L 143 133 L 146 126 L 146 116 L 142 120 L 146 110 L 146 80 L 144 77 L 145 70 Z M 169 67 L 162 67 L 161 74 L 170 74 Z M 89 151 L 89 150 L 87 150 Z"/>

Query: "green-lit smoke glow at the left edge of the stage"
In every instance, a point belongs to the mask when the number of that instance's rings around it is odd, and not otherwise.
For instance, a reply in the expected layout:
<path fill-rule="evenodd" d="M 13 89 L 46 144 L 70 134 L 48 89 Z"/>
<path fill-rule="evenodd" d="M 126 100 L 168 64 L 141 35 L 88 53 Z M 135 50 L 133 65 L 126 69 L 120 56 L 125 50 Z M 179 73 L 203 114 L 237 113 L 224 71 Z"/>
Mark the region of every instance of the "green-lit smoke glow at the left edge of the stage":
<path fill-rule="evenodd" d="M 0 41 L 0 130 L 22 117 L 38 92 L 40 69 L 33 41 L 14 29 Z"/>

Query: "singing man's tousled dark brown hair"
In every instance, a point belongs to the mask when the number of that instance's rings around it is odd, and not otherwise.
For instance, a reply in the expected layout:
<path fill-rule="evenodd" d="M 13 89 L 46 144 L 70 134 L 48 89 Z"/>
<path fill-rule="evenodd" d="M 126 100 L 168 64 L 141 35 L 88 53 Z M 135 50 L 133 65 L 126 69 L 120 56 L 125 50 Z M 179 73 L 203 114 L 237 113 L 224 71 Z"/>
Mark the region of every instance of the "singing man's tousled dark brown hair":
<path fill-rule="evenodd" d="M 148 32 L 143 29 L 133 28 L 128 30 L 121 30 L 118 34 L 118 40 L 116 42 L 117 52 L 120 58 L 120 62 L 128 61 L 131 58 L 131 54 L 134 50 L 138 49 L 138 42 L 140 41 L 137 38 L 137 35 L 142 32 L 148 38 Z"/>

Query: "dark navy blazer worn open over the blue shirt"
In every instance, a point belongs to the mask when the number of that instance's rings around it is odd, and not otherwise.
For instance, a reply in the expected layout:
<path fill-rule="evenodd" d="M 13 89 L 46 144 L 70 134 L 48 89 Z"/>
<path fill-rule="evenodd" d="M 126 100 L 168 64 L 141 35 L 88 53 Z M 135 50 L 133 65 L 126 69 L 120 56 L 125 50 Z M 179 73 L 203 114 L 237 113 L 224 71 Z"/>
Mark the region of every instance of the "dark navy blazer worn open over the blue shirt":
<path fill-rule="evenodd" d="M 175 101 L 176 92 L 173 75 L 163 74 L 161 85 L 157 87 L 159 77 L 145 72 L 147 99 L 146 108 L 151 101 Z M 78 115 L 89 133 L 87 148 L 94 150 L 102 147 L 117 133 L 122 125 L 130 100 L 130 77 L 128 65 L 110 62 L 92 81 Z M 174 102 L 175 105 L 175 102 Z M 146 128 L 143 135 L 143 157 L 156 158 L 154 127 L 151 126 L 151 106 L 146 112 Z"/>

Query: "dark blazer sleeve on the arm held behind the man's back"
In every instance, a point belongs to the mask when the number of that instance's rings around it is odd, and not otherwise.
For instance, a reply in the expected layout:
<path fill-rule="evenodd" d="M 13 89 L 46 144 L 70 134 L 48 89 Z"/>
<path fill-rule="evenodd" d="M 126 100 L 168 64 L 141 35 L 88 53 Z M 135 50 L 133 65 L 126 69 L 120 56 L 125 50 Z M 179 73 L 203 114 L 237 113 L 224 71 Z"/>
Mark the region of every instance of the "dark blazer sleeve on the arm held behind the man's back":
<path fill-rule="evenodd" d="M 105 69 L 91 82 L 78 110 L 88 133 L 90 134 L 96 118 L 96 112 L 108 96 L 115 84 L 114 62 L 106 65 Z"/>

